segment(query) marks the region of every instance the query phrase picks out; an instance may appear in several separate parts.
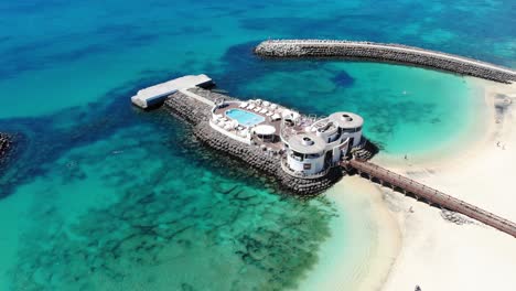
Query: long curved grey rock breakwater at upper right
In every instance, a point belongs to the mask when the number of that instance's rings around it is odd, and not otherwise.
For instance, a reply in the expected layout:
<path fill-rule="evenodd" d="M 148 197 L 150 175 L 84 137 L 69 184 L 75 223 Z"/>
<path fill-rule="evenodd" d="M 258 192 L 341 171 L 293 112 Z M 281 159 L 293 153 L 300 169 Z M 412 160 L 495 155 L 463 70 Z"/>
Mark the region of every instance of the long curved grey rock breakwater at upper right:
<path fill-rule="evenodd" d="M 272 40 L 256 46 L 255 54 L 278 58 L 336 57 L 409 64 L 499 83 L 516 82 L 516 72 L 510 68 L 400 44 L 333 40 Z"/>

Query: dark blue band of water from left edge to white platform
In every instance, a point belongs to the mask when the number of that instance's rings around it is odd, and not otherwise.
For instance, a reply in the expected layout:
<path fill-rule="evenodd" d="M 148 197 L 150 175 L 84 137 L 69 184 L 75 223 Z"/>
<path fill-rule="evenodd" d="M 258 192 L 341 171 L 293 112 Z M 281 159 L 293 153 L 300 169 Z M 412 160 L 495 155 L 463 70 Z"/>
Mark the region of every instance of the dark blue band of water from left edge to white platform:
<path fill-rule="evenodd" d="M 17 136 L 23 137 L 20 140 L 22 144 L 17 146 L 17 151 L 18 148 L 23 148 L 15 157 L 18 162 L 10 163 L 6 171 L 0 172 L 0 198 L 10 195 L 24 182 L 49 172 L 52 162 L 69 149 L 101 140 L 130 127 L 127 120 L 138 116 L 141 122 L 161 122 L 160 117 L 151 117 L 132 108 L 127 104 L 127 96 L 155 79 L 168 78 L 163 76 L 162 72 L 146 72 L 140 79 L 109 90 L 106 96 L 87 107 L 67 108 L 36 118 L 0 120 L 2 130 L 19 132 Z M 57 140 L 60 142 L 55 142 Z"/>

